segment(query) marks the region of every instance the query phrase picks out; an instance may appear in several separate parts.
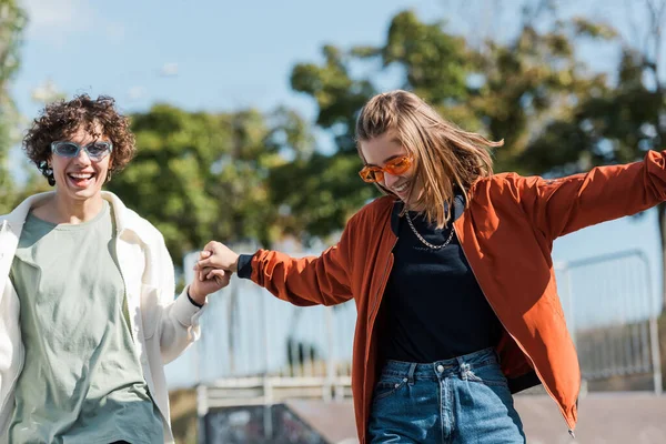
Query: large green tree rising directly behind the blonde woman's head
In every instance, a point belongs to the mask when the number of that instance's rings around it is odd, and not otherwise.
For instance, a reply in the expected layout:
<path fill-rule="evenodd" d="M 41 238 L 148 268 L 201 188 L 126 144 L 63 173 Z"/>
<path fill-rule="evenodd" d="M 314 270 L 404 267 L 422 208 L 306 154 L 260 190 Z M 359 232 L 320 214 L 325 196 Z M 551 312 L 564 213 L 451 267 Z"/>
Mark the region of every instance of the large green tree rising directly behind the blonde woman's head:
<path fill-rule="evenodd" d="M 347 51 L 326 46 L 321 63 L 294 67 L 292 88 L 316 102 L 316 124 L 335 142 L 333 153 L 285 165 L 276 176 L 295 178 L 297 186 L 281 203 L 303 221 L 306 235 L 340 229 L 376 195 L 356 174 L 361 161 L 354 121 L 365 101 L 386 83 L 415 91 L 465 129 L 504 139 L 505 145 L 495 153 L 497 170 L 524 171 L 521 154 L 541 125 L 604 87 L 603 78 L 589 74 L 576 59 L 574 41 L 584 33 L 579 26 L 561 20 L 544 26 L 542 20 L 537 27 L 539 17 L 553 11 L 547 2 L 537 7 L 525 9 L 513 39 L 476 47 L 450 32 L 445 22 L 423 22 L 414 12 L 403 11 L 391 21 L 382 46 Z"/>

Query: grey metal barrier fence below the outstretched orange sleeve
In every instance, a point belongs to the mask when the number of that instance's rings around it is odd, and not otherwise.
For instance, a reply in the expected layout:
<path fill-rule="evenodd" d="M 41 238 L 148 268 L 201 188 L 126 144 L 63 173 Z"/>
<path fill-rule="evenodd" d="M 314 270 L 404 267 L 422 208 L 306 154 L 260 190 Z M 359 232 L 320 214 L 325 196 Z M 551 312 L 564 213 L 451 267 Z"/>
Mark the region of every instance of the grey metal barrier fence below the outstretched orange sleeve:
<path fill-rule="evenodd" d="M 559 296 L 583 379 L 652 374 L 662 393 L 657 317 L 650 266 L 638 250 L 556 266 Z"/>

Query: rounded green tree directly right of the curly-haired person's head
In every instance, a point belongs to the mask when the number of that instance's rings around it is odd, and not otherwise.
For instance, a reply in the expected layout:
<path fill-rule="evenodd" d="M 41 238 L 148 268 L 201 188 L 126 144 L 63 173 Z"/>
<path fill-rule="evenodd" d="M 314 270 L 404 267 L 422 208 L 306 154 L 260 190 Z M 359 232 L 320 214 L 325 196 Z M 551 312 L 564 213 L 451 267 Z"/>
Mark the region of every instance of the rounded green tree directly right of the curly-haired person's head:
<path fill-rule="evenodd" d="M 108 190 L 164 235 L 176 264 L 212 239 L 270 245 L 282 218 L 269 178 L 311 145 L 294 112 L 186 112 L 158 104 L 132 115 L 138 154 Z M 271 223 L 266 223 L 271 221 Z"/>

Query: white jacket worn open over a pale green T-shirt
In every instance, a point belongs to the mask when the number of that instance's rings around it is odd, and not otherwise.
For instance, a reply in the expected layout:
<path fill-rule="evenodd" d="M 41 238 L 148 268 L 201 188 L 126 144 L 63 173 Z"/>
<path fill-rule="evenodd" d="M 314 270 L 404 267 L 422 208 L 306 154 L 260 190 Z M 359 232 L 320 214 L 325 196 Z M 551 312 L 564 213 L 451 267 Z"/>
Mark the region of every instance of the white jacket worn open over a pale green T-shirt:
<path fill-rule="evenodd" d="M 24 360 L 19 297 L 9 271 L 30 208 L 52 194 L 36 194 L 0 216 L 0 444 L 8 441 L 14 385 Z M 199 339 L 199 316 L 203 310 L 189 301 L 186 287 L 173 299 L 173 263 L 162 234 L 114 194 L 102 192 L 102 196 L 111 203 L 115 215 L 118 262 L 125 283 L 137 354 L 150 393 L 162 413 L 164 442 L 173 443 L 164 364 Z"/>

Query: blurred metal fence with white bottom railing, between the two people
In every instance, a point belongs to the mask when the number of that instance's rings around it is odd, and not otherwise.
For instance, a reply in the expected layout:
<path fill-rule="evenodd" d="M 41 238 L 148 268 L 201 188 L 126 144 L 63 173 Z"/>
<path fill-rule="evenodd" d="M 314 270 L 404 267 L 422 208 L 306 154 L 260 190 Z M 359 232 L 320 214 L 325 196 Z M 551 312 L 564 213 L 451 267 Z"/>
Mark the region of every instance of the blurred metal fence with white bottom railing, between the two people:
<path fill-rule="evenodd" d="M 191 270 L 194 258 L 185 258 Z M 191 279 L 191 275 L 186 275 Z M 351 397 L 353 301 L 295 306 L 249 280 L 233 279 L 209 297 L 194 355 L 200 415 L 232 405 L 287 398 Z"/>

